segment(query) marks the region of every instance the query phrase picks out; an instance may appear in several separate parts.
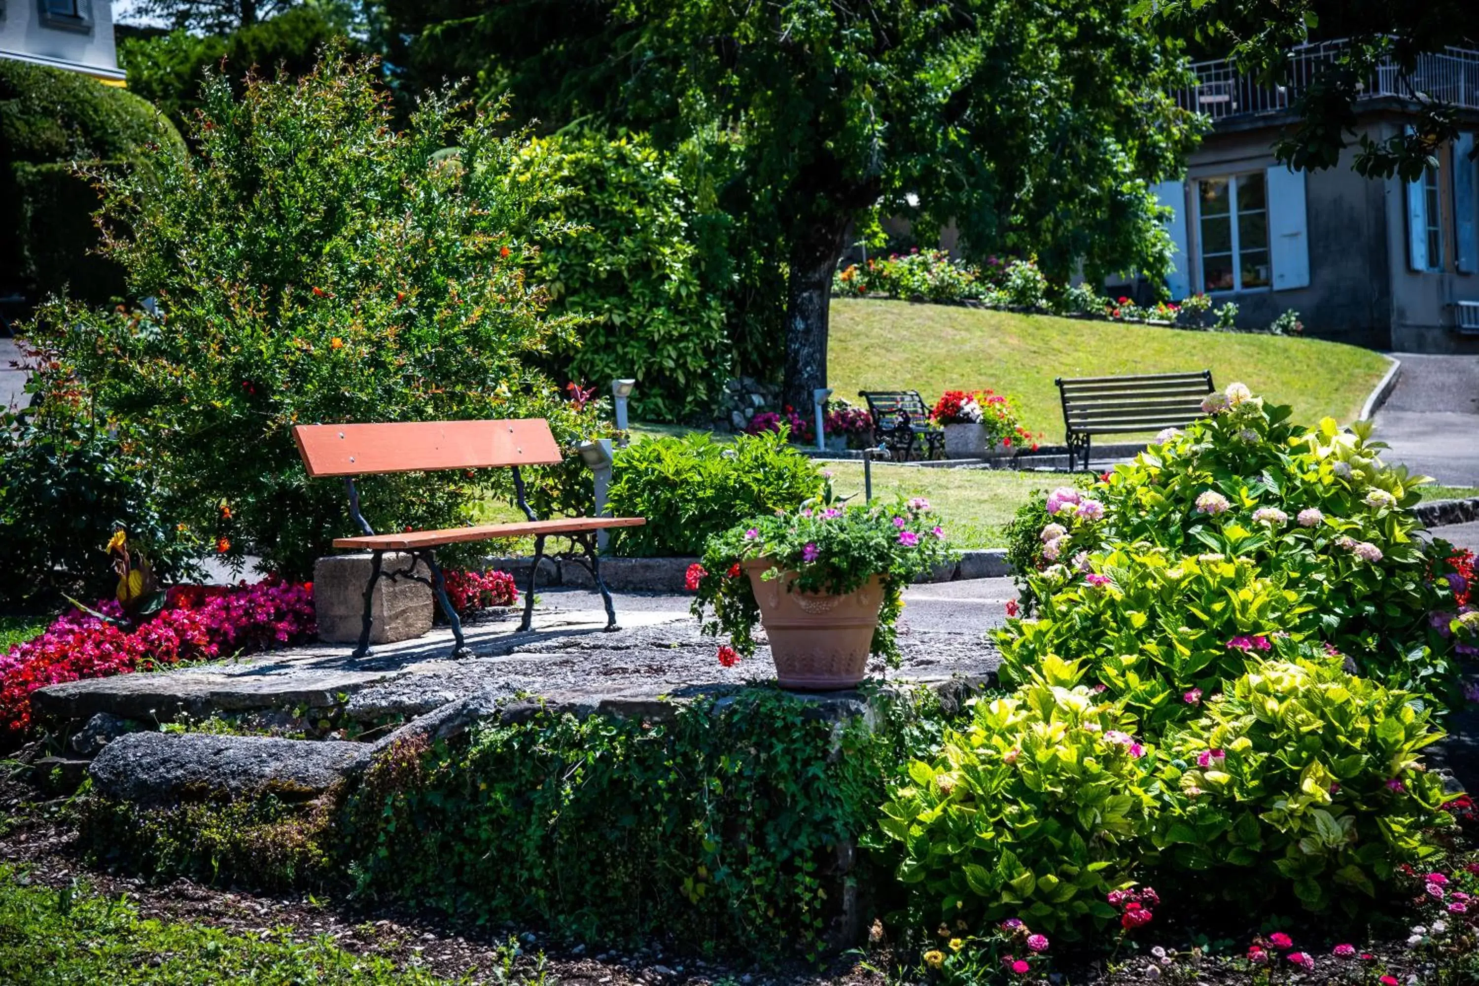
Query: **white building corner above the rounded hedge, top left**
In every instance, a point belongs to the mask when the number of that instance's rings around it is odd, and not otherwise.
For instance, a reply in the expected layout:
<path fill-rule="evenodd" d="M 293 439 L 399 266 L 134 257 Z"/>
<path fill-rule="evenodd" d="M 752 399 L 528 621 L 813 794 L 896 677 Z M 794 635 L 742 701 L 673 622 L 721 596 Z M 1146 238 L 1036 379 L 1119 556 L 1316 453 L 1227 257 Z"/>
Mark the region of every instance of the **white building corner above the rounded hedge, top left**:
<path fill-rule="evenodd" d="M 108 0 L 0 0 L 0 58 L 124 81 Z"/>

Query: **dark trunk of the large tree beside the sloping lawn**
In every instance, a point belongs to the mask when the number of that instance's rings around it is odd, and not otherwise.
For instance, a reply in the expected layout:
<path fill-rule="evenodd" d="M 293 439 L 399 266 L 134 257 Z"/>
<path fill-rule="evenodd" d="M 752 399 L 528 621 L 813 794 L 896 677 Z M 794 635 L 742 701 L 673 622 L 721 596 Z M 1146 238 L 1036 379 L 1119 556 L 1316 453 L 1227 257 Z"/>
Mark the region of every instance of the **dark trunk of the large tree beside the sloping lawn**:
<path fill-rule="evenodd" d="M 842 256 L 847 216 L 825 216 L 791 241 L 791 272 L 785 297 L 784 404 L 808 421 L 812 390 L 827 386 L 827 316 L 831 278 Z"/>

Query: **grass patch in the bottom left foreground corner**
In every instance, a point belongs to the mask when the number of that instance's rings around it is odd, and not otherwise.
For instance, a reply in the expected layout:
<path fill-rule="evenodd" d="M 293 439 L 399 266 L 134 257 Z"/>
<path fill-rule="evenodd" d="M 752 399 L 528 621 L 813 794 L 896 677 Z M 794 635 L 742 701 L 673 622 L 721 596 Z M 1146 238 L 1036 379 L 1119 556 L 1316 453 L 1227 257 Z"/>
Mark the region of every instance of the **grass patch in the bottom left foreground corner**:
<path fill-rule="evenodd" d="M 200 921 L 145 919 L 124 896 L 104 896 L 81 883 L 46 887 L 9 865 L 0 866 L 0 980 L 18 986 L 447 983 L 324 939 L 297 940 L 288 930 L 232 934 Z"/>

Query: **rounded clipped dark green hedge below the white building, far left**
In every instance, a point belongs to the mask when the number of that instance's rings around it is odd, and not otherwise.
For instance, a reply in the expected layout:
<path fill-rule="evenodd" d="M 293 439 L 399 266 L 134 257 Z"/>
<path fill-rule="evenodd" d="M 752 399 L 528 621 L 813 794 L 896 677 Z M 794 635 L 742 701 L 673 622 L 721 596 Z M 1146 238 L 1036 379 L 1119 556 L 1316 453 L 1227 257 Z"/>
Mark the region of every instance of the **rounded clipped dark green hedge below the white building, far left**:
<path fill-rule="evenodd" d="M 151 146 L 183 149 L 175 127 L 136 95 L 0 61 L 0 291 L 40 299 L 67 288 L 99 305 L 120 296 L 118 265 L 90 253 L 99 245 L 98 194 L 74 163 L 121 170 Z"/>

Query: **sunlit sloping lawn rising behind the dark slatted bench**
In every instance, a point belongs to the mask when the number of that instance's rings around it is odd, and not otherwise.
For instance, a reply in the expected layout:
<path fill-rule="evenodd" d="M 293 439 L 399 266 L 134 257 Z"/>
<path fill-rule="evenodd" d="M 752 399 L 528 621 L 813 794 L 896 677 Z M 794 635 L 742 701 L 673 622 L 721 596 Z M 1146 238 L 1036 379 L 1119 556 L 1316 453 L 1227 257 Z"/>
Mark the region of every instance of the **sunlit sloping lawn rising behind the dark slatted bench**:
<path fill-rule="evenodd" d="M 1219 387 L 1241 380 L 1273 402 L 1293 404 L 1297 421 L 1331 415 L 1349 423 L 1387 361 L 1315 339 L 833 299 L 827 365 L 828 384 L 849 401 L 870 389 L 913 389 L 933 402 L 944 390 L 991 387 L 1016 396 L 1025 424 L 1056 443 L 1063 417 L 1055 377 L 1210 368 Z"/>

